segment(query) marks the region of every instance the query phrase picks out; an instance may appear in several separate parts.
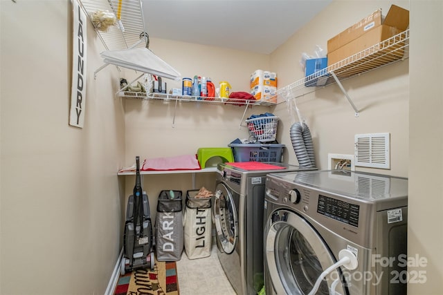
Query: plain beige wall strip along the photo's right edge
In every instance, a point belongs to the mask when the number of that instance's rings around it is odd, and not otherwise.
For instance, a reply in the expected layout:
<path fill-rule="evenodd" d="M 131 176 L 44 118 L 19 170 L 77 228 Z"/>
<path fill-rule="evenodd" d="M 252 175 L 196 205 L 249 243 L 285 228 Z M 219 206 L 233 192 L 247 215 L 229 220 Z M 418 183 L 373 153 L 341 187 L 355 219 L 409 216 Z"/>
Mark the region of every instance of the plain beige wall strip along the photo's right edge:
<path fill-rule="evenodd" d="M 431 24 L 440 23 L 443 2 L 413 0 L 410 9 L 408 256 L 427 265 L 408 268 L 426 272 L 426 284 L 410 283 L 408 294 L 442 294 L 443 35 Z"/>

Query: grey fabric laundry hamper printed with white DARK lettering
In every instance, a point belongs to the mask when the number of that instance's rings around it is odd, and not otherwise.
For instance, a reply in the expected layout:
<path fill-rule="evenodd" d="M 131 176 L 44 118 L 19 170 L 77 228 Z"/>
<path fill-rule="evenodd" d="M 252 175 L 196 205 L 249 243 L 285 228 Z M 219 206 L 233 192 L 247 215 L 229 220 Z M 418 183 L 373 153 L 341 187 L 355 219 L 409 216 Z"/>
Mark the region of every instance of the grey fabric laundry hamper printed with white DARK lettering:
<path fill-rule="evenodd" d="M 161 191 L 155 222 L 156 258 L 177 261 L 183 252 L 183 205 L 181 191 Z"/>

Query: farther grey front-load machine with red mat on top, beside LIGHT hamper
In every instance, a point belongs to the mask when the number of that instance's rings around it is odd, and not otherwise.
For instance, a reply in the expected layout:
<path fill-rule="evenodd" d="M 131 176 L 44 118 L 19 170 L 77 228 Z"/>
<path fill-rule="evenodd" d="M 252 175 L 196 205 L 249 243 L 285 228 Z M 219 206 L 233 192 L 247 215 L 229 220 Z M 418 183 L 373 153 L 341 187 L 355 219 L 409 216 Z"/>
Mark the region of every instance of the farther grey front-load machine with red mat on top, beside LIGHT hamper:
<path fill-rule="evenodd" d="M 263 206 L 266 175 L 276 171 L 314 169 L 282 163 L 218 164 L 213 202 L 219 248 L 217 255 L 237 294 L 257 294 L 264 283 Z"/>

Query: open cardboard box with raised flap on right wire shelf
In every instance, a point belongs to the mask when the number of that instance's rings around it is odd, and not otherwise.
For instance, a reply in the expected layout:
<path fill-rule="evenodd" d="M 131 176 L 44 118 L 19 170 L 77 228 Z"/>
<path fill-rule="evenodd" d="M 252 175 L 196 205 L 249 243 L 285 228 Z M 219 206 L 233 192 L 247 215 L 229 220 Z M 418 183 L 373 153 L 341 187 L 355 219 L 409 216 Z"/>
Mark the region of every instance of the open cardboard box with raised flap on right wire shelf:
<path fill-rule="evenodd" d="M 359 59 L 362 57 L 368 57 L 377 53 L 379 50 L 383 50 L 382 46 L 375 46 L 381 41 L 389 39 L 392 36 L 399 34 L 406 30 L 409 26 L 409 11 L 399 6 L 392 5 L 389 9 L 388 15 L 384 19 L 381 26 L 372 28 L 368 32 L 365 32 L 360 37 L 350 41 L 349 43 L 341 46 L 332 52 L 327 53 L 327 64 L 332 66 L 338 61 L 347 59 L 352 55 L 361 53 Z M 372 46 L 374 46 L 372 48 Z M 370 50 L 367 50 L 370 48 Z M 365 50 L 365 51 L 363 51 Z M 392 56 L 392 59 L 401 59 L 402 54 Z M 386 63 L 392 61 L 386 59 Z M 331 70 L 334 70 L 333 68 Z"/>

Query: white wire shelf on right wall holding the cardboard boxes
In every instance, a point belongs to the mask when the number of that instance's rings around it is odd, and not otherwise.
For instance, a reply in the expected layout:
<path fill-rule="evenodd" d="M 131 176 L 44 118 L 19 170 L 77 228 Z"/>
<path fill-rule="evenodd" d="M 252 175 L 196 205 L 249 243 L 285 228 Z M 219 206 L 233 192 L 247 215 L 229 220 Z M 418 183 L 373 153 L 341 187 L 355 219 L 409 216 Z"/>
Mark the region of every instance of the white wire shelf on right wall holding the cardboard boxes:
<path fill-rule="evenodd" d="M 318 88 L 324 88 L 332 84 L 338 84 L 341 86 L 340 82 L 345 79 L 361 75 L 362 73 L 366 73 L 376 68 L 381 68 L 382 66 L 387 66 L 396 61 L 408 59 L 408 41 L 409 29 L 390 37 L 389 39 L 381 41 L 379 44 L 375 44 L 370 48 L 366 48 L 359 53 L 338 61 L 336 64 L 323 68 L 312 75 L 279 88 L 275 97 L 277 97 L 278 103 L 280 104 L 285 102 L 285 97 L 283 97 L 283 95 L 297 98 L 318 91 Z M 309 84 L 309 82 L 315 84 L 316 79 L 319 77 L 320 79 L 323 78 L 326 80 L 324 85 L 313 87 L 305 86 L 305 84 Z M 358 111 L 356 111 L 356 113 L 358 113 Z"/>

